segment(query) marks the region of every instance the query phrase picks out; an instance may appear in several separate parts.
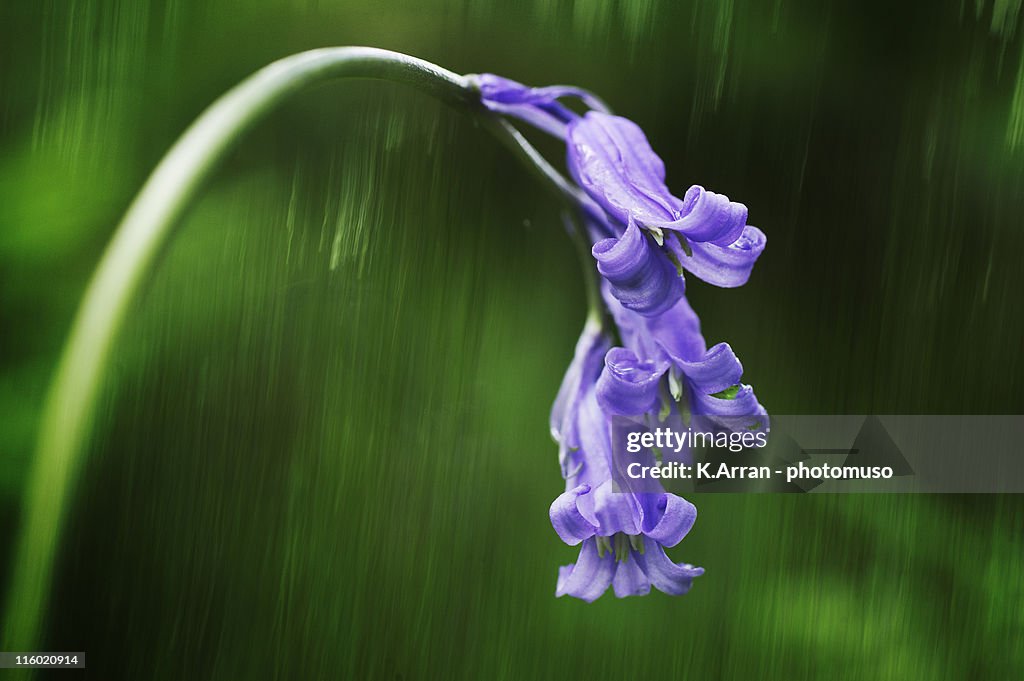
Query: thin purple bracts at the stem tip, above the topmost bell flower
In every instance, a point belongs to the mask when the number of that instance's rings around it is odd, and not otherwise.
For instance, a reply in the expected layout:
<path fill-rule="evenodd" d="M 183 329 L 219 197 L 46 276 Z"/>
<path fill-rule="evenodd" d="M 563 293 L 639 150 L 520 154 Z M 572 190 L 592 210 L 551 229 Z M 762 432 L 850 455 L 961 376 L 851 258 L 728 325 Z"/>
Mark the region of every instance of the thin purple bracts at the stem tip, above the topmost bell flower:
<path fill-rule="evenodd" d="M 480 74 L 475 77 L 483 105 L 495 112 L 517 118 L 545 132 L 564 139 L 565 126 L 580 116 L 559 99 L 575 97 L 596 111 L 607 111 L 604 102 L 587 90 L 567 85 L 527 87 L 522 83 Z"/>

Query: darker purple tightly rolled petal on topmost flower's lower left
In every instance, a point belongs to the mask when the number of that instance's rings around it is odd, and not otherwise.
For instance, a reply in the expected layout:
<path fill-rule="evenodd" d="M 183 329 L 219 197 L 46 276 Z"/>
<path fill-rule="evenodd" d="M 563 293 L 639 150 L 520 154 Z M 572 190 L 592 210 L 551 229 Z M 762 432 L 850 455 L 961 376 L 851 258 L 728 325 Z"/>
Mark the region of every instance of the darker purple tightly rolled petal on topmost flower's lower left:
<path fill-rule="evenodd" d="M 622 237 L 598 242 L 592 253 L 597 270 L 611 284 L 611 295 L 628 309 L 652 316 L 683 296 L 683 278 L 632 217 Z"/>

